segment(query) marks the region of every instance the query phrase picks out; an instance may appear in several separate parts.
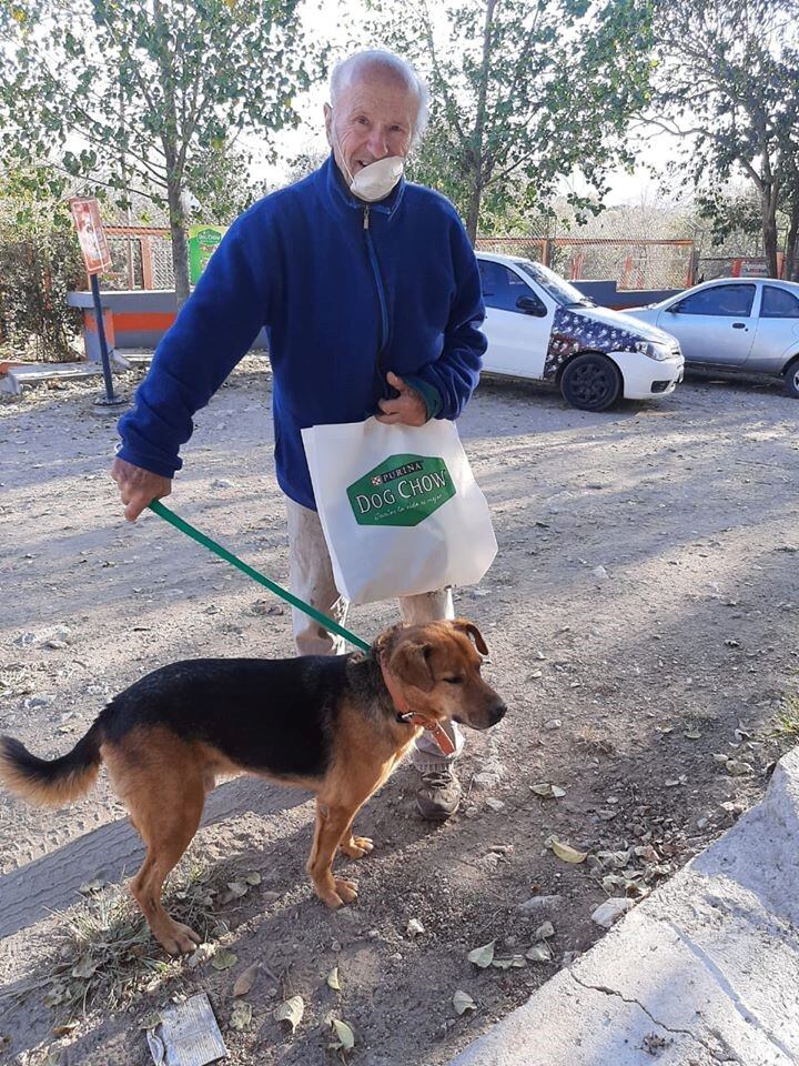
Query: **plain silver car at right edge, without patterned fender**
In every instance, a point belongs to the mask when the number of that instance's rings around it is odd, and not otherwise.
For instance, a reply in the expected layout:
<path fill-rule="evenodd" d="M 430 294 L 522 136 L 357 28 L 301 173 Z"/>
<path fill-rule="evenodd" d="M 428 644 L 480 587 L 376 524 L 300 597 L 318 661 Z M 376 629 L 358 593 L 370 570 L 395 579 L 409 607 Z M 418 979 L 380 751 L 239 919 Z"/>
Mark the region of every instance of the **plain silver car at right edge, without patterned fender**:
<path fill-rule="evenodd" d="M 676 336 L 690 366 L 783 378 L 799 399 L 799 284 L 772 278 L 706 281 L 624 312 Z"/>

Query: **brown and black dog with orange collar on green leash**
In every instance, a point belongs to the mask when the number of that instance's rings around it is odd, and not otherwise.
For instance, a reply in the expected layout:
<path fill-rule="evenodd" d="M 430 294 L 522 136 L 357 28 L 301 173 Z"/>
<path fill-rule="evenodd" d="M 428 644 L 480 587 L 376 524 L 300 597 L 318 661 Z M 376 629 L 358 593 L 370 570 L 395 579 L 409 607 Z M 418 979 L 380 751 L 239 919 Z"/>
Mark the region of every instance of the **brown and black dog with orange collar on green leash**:
<path fill-rule="evenodd" d="M 115 696 L 68 755 L 48 762 L 0 738 L 0 782 L 58 806 L 88 792 L 105 763 L 146 845 L 133 895 L 170 954 L 191 952 L 200 938 L 169 916 L 161 889 L 216 777 L 255 774 L 314 792 L 307 871 L 324 903 L 350 903 L 356 886 L 333 876 L 335 853 L 372 851 L 352 835 L 353 818 L 422 730 L 441 735 L 449 720 L 486 730 L 505 714 L 481 677 L 487 654 L 478 628 L 458 619 L 394 626 L 368 653 L 173 663 Z"/>

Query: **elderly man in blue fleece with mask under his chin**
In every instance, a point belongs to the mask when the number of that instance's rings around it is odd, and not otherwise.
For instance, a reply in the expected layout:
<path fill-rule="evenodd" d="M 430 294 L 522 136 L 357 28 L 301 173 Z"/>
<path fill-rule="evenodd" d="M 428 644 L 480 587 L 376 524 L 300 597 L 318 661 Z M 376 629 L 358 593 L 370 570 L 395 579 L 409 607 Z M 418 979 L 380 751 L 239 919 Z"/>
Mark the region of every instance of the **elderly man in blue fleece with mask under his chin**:
<path fill-rule="evenodd" d="M 364 51 L 335 68 L 330 99 L 331 158 L 230 228 L 120 420 L 111 476 L 129 521 L 168 495 L 194 412 L 265 326 L 292 590 L 343 621 L 301 430 L 373 414 L 406 425 L 456 419 L 486 341 L 477 264 L 455 209 L 402 177 L 426 121 L 423 82 L 398 57 Z M 406 622 L 453 615 L 449 590 L 400 603 Z M 294 637 L 300 654 L 343 651 L 299 612 Z M 463 737 L 454 740 L 457 755 Z M 419 812 L 447 818 L 461 796 L 452 758 L 425 734 L 414 765 Z"/>

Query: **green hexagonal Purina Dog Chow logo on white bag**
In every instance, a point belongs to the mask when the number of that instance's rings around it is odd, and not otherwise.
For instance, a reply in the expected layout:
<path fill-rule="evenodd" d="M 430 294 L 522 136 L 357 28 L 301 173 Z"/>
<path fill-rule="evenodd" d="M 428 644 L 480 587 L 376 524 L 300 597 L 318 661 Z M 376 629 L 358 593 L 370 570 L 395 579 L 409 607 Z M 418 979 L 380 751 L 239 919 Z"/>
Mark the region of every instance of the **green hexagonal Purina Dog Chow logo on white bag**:
<path fill-rule="evenodd" d="M 350 485 L 358 525 L 418 525 L 455 495 L 443 459 L 391 455 Z"/>

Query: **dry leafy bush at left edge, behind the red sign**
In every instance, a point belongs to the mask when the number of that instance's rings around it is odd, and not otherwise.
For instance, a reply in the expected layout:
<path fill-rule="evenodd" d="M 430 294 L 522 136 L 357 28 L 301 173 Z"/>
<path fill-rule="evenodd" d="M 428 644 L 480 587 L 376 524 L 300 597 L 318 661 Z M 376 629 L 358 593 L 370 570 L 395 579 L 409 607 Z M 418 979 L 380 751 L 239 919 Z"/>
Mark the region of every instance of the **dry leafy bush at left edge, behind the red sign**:
<path fill-rule="evenodd" d="M 67 293 L 85 275 L 62 195 L 52 168 L 0 174 L 0 345 L 11 356 L 74 359 L 80 316 Z"/>

